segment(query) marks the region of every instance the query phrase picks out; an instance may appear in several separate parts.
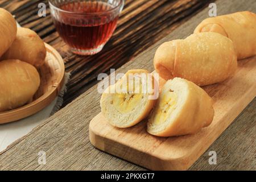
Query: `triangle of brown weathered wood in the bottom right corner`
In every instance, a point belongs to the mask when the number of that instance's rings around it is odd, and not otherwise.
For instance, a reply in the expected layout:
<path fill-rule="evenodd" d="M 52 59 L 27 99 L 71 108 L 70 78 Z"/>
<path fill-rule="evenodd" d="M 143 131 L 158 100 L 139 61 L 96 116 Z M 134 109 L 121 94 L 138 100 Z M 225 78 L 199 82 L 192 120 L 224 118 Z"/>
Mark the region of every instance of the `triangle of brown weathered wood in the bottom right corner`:
<path fill-rule="evenodd" d="M 256 98 L 191 167 L 193 170 L 256 170 Z M 221 146 L 221 148 L 220 148 Z M 209 151 L 217 165 L 209 165 Z"/>

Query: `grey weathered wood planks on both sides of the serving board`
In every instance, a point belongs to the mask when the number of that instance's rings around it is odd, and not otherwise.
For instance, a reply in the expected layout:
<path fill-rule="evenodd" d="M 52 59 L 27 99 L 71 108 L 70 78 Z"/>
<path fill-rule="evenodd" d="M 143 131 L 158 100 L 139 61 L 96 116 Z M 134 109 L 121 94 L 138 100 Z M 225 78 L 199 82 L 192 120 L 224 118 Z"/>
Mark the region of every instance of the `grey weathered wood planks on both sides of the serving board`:
<path fill-rule="evenodd" d="M 238 10 L 255 12 L 254 0 L 218 1 L 218 13 L 232 13 Z M 184 23 L 166 38 L 148 48 L 154 52 L 166 40 L 184 38 L 191 34 L 207 10 Z M 131 68 L 146 68 L 152 71 L 152 56 L 142 53 L 133 61 L 123 65 L 118 72 Z M 147 54 L 148 55 L 148 54 Z M 70 55 L 71 60 L 72 58 Z M 79 59 L 82 60 L 80 57 Z M 68 61 L 68 60 L 67 60 Z M 72 67 L 70 65 L 70 67 Z M 143 169 L 124 160 L 95 149 L 89 143 L 89 121 L 100 112 L 100 94 L 96 86 L 87 90 L 74 102 L 64 107 L 43 125 L 36 127 L 30 134 L 13 143 L 0 154 L 0 169 Z M 241 113 L 230 127 L 210 146 L 217 152 L 217 165 L 208 164 L 208 152 L 191 169 L 253 169 L 255 170 L 255 118 L 256 100 Z M 39 166 L 38 152 L 46 151 L 47 164 Z"/>

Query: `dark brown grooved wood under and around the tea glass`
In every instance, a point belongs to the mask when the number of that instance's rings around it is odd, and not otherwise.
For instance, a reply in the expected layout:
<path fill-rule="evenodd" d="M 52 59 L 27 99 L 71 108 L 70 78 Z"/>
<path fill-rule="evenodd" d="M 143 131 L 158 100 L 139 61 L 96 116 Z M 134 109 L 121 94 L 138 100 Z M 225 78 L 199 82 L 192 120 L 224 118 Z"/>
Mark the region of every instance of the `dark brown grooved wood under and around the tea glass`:
<path fill-rule="evenodd" d="M 47 5 L 47 16 L 38 16 L 38 3 Z M 0 0 L 0 7 L 9 10 L 23 27 L 36 31 L 44 41 L 60 52 L 66 72 L 72 74 L 67 84 L 64 104 L 73 101 L 97 83 L 97 75 L 119 68 L 133 57 L 170 34 L 191 18 L 209 0 L 126 0 L 114 35 L 104 49 L 94 56 L 77 56 L 57 34 L 50 16 L 48 1 Z"/>

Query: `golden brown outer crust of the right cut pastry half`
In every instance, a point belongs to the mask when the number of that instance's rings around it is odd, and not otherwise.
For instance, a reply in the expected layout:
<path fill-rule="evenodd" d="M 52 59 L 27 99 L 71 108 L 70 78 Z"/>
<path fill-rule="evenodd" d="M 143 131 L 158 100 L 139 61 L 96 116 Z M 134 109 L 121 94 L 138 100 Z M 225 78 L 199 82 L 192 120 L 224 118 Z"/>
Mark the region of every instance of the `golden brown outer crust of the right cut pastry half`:
<path fill-rule="evenodd" d="M 175 120 L 168 123 L 168 126 L 158 133 L 152 133 L 148 124 L 147 131 L 149 133 L 159 137 L 194 134 L 201 130 L 202 127 L 209 126 L 212 122 L 214 117 L 212 98 L 193 82 L 184 79 L 180 81 L 186 82 L 186 89 L 188 90 L 187 100 L 184 102 L 182 109 L 177 113 Z"/>

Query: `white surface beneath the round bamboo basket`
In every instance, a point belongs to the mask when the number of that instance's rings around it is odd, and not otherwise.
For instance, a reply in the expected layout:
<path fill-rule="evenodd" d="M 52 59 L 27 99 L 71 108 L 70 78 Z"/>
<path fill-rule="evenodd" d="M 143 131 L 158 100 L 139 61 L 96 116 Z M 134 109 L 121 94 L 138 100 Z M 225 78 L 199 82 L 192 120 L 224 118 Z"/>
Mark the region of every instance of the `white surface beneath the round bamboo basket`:
<path fill-rule="evenodd" d="M 57 97 L 52 103 L 44 108 L 39 113 L 31 115 L 30 117 L 21 119 L 13 123 L 0 125 L 0 152 L 5 150 L 15 140 L 30 133 L 36 126 L 40 125 L 44 119 L 48 118 L 56 105 Z"/>

